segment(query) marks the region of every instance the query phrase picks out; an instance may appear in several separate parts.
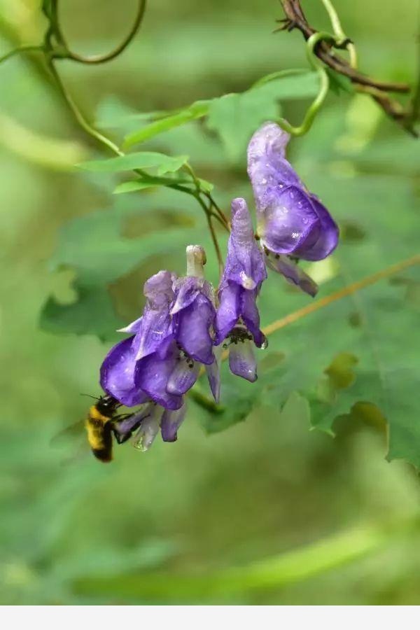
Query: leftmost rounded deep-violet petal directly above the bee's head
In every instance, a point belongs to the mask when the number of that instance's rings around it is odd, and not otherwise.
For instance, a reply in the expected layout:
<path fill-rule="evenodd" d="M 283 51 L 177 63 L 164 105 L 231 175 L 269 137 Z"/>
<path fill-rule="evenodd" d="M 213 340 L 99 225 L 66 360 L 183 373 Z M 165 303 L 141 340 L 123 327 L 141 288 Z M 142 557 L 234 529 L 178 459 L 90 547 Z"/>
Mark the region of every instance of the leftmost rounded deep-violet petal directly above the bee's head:
<path fill-rule="evenodd" d="M 102 363 L 100 377 L 102 389 L 127 407 L 135 407 L 148 400 L 146 393 L 134 382 L 136 361 L 133 338 L 123 339 L 111 348 Z"/>

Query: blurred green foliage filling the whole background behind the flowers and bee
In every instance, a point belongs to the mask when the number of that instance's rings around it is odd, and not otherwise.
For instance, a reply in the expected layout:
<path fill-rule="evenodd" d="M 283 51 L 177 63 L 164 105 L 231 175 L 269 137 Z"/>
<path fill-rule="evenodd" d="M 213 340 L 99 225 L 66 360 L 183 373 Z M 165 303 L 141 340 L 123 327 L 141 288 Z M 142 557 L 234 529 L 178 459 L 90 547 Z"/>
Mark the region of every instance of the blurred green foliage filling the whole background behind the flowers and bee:
<path fill-rule="evenodd" d="M 38 43 L 39 4 L 0 0 L 1 52 Z M 307 4 L 311 22 L 328 27 L 321 6 Z M 88 53 L 112 48 L 134 11 L 130 0 L 118 10 L 99 0 L 62 5 L 72 47 Z M 380 22 L 371 1 L 335 6 L 372 74 L 412 80 L 411 0 L 400 3 L 398 27 L 390 1 Z M 64 80 L 92 119 L 96 111 L 104 121 L 113 103 L 104 126 L 121 140 L 139 129 L 139 113 L 197 99 L 221 107 L 217 97 L 235 92 L 224 98 L 229 113 L 260 76 L 305 65 L 298 34 L 270 34 L 280 13 L 274 0 L 206 0 L 198 12 L 192 0 L 150 2 L 124 55 L 95 68 L 64 62 Z M 420 463 L 416 269 L 275 332 L 257 385 L 225 374 L 223 405 L 235 417 L 192 402 L 179 442 L 146 455 L 118 448 L 109 467 L 92 461 L 83 435 L 52 447 L 85 414 L 80 392 L 97 393 L 98 367 L 114 330 L 138 316 L 146 277 L 182 272 L 186 241 L 207 248 L 213 281 L 216 261 L 190 196 L 148 188 L 113 197 L 120 176 L 71 169 L 104 155 L 94 155 L 36 55 L 0 72 L 1 603 L 418 603 L 419 480 L 384 460 L 385 415 L 388 456 Z M 337 253 L 309 265 L 321 295 L 409 258 L 419 241 L 416 143 L 340 87 L 290 146 L 342 229 Z M 285 100 L 283 116 L 298 123 L 308 95 Z M 194 120 L 141 146 L 189 155 L 224 208 L 234 196 L 251 200 L 243 148 L 252 128 L 245 116 L 236 145 L 228 113 L 216 110 L 211 130 Z M 265 325 L 307 304 L 277 276 L 264 288 Z"/>

